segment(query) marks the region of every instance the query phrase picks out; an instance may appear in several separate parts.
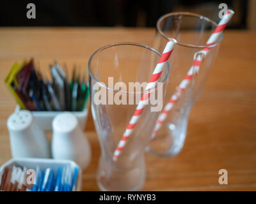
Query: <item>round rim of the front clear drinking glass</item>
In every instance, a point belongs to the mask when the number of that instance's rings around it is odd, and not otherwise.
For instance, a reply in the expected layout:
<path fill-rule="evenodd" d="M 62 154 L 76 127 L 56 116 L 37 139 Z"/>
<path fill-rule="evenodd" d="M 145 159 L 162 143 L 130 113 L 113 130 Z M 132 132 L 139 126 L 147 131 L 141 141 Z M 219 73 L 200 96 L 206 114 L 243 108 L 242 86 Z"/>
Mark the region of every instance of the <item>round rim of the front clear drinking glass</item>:
<path fill-rule="evenodd" d="M 115 46 L 120 46 L 120 45 L 134 45 L 134 46 L 137 46 L 137 47 L 142 47 L 142 48 L 146 48 L 147 50 L 150 50 L 152 52 L 154 52 L 155 54 L 159 55 L 159 57 L 161 56 L 161 53 L 156 50 L 155 48 L 153 47 L 150 47 L 148 45 L 145 45 L 145 44 L 141 44 L 141 43 L 134 43 L 134 42 L 117 42 L 117 43 L 110 43 L 108 45 L 105 45 L 104 47 L 100 47 L 99 49 L 97 49 L 95 52 L 93 52 L 93 54 L 91 55 L 89 61 L 88 61 L 88 72 L 89 72 L 89 75 L 90 77 L 93 78 L 93 80 L 95 80 L 95 82 L 97 82 L 97 84 L 99 84 L 101 87 L 104 87 L 108 90 L 111 90 L 111 91 L 114 91 L 114 92 L 122 92 L 122 93 L 125 93 L 125 94 L 147 94 L 148 92 L 153 92 L 155 89 L 158 89 L 159 86 L 154 86 L 153 88 L 151 89 L 148 89 L 148 90 L 144 90 L 144 91 L 140 91 L 140 92 L 131 92 L 131 91 L 123 91 L 123 90 L 119 90 L 119 89 L 113 89 L 113 88 L 110 88 L 108 87 L 107 85 L 104 85 L 102 84 L 102 82 L 99 82 L 99 80 L 93 75 L 92 73 L 92 69 L 91 69 L 91 64 L 92 64 L 92 59 L 93 57 L 103 51 L 103 50 L 106 50 L 108 48 L 111 48 L 111 47 L 115 47 Z M 170 66 L 169 66 L 169 63 L 167 62 L 166 63 L 166 67 L 167 67 L 167 73 L 165 75 L 165 77 L 163 78 L 163 80 L 161 81 L 161 83 L 163 83 L 161 86 L 163 87 L 163 85 L 166 83 L 169 75 L 170 75 Z M 148 82 L 147 82 L 148 83 Z M 161 87 L 160 86 L 160 87 Z"/>

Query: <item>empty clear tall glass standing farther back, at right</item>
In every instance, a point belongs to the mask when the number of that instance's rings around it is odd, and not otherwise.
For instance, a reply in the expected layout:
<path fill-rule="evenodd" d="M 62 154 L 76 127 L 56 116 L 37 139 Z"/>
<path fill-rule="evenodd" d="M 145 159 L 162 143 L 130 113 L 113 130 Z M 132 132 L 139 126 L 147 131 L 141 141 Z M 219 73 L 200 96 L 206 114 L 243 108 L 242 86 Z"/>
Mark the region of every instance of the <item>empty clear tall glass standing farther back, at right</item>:
<path fill-rule="evenodd" d="M 168 38 L 175 38 L 178 43 L 168 61 L 172 68 L 170 76 L 175 77 L 170 78 L 164 99 L 164 105 L 169 102 L 172 108 L 165 120 L 157 122 L 156 126 L 160 128 L 155 131 L 154 138 L 147 147 L 147 150 L 156 156 L 175 156 L 184 145 L 189 112 L 204 87 L 220 47 L 222 34 L 211 45 L 206 55 L 201 52 L 209 47 L 206 42 L 216 26 L 217 24 L 209 18 L 188 12 L 168 13 L 157 21 L 154 47 L 161 52 Z M 202 58 L 202 62 L 200 66 L 195 64 L 196 71 L 189 80 L 189 69 L 193 59 L 198 57 Z M 172 96 L 179 92 L 180 82 L 185 82 L 184 79 L 187 79 L 187 87 L 178 94 L 177 100 L 174 98 L 170 101 Z"/>

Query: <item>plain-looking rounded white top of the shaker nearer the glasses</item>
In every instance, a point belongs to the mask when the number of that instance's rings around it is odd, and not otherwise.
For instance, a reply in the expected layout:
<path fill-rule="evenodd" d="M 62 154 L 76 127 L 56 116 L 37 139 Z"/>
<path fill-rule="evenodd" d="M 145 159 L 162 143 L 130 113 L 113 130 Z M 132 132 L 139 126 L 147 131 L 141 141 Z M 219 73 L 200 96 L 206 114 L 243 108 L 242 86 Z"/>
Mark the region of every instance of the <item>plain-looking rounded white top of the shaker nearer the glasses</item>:
<path fill-rule="evenodd" d="M 60 113 L 52 121 L 52 129 L 60 133 L 69 133 L 78 126 L 77 118 L 70 112 Z"/>

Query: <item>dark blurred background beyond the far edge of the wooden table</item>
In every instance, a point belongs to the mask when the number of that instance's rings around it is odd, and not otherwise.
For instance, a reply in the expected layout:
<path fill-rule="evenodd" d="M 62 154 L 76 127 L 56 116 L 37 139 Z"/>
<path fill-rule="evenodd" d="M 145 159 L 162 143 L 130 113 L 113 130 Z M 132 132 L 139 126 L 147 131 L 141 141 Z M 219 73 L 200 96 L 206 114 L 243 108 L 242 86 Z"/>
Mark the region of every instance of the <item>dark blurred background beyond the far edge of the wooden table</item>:
<path fill-rule="evenodd" d="M 0 26 L 125 26 L 155 27 L 162 15 L 191 11 L 218 22 L 218 5 L 227 3 L 236 15 L 233 29 L 255 29 L 255 0 L 1 0 Z M 36 19 L 28 19 L 28 3 L 36 6 Z"/>

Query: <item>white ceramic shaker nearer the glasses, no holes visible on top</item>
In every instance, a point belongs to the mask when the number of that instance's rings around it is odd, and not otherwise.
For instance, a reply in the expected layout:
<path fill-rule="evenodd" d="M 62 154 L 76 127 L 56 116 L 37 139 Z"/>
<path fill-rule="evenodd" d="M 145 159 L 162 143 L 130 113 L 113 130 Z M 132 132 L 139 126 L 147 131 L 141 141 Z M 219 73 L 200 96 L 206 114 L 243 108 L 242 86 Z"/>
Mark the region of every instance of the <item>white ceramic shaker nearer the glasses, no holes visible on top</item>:
<path fill-rule="evenodd" d="M 82 169 L 90 163 L 90 144 L 76 116 L 70 112 L 60 113 L 52 120 L 51 148 L 54 159 L 73 160 Z"/>

